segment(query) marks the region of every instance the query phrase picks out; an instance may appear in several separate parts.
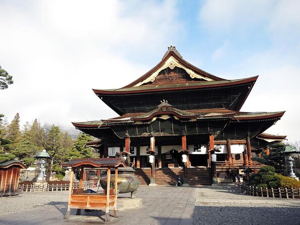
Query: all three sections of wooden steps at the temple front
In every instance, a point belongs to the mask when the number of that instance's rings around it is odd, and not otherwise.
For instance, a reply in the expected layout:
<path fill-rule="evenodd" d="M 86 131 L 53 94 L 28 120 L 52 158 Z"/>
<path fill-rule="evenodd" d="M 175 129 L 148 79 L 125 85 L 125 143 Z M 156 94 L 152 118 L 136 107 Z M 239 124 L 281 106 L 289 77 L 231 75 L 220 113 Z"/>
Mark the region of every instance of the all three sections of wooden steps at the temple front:
<path fill-rule="evenodd" d="M 136 168 L 134 174 L 140 179 L 141 185 L 148 185 L 150 183 L 150 168 Z M 183 168 L 156 168 L 155 183 L 157 185 L 175 185 L 178 176 L 183 181 Z M 187 178 L 189 185 L 211 185 L 211 168 L 189 167 L 187 168 Z"/>

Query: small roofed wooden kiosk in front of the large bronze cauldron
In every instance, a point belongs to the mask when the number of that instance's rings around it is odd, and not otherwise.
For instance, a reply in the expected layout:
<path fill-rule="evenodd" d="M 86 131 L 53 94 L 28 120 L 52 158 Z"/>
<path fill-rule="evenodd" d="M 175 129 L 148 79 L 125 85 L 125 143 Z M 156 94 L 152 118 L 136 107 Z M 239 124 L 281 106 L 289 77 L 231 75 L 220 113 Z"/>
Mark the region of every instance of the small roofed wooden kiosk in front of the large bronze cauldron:
<path fill-rule="evenodd" d="M 71 208 L 77 208 L 76 215 L 80 215 L 81 209 L 100 209 L 105 210 L 105 221 L 110 221 L 109 209 L 113 208 L 114 217 L 117 217 L 117 184 L 115 190 L 110 190 L 111 168 L 115 168 L 115 181 L 118 178 L 118 167 L 126 167 L 120 158 L 76 158 L 63 164 L 63 166 L 72 166 L 68 209 L 64 218 L 68 218 Z M 73 189 L 73 177 L 76 167 L 81 168 L 79 188 Z M 107 191 L 106 194 L 84 193 L 82 188 L 84 168 L 107 168 Z"/>

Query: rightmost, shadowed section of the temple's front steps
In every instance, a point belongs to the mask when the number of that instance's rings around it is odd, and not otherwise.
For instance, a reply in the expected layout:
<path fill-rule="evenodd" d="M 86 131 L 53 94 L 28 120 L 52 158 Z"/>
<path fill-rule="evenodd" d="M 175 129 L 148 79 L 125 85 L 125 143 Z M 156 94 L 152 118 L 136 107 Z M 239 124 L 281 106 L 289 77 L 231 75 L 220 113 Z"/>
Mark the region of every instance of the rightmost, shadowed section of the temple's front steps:
<path fill-rule="evenodd" d="M 211 185 L 212 172 L 210 167 L 187 168 L 189 185 Z"/>

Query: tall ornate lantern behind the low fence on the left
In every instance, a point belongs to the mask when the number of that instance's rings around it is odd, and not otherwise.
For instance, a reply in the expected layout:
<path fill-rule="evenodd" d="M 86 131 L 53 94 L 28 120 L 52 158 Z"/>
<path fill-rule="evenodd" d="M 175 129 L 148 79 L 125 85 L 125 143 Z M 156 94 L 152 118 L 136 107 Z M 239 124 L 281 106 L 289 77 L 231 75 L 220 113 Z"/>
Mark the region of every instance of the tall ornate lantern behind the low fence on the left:
<path fill-rule="evenodd" d="M 46 150 L 42 150 L 39 152 L 36 156 L 36 169 L 35 169 L 35 184 L 37 185 L 43 185 L 47 184 L 47 172 L 48 172 L 48 166 L 49 166 L 49 160 L 51 159 L 51 156 L 46 152 Z"/>

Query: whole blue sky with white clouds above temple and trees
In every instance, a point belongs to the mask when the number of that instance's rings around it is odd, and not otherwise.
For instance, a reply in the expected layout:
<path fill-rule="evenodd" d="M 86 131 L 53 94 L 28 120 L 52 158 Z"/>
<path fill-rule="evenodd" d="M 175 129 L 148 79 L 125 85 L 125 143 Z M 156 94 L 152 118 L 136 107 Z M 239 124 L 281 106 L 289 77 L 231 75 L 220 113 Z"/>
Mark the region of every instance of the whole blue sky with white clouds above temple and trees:
<path fill-rule="evenodd" d="M 0 113 L 71 129 L 116 116 L 92 91 L 120 88 L 167 46 L 225 79 L 259 75 L 242 111 L 282 111 L 267 132 L 300 140 L 300 1 L 0 0 Z"/>

